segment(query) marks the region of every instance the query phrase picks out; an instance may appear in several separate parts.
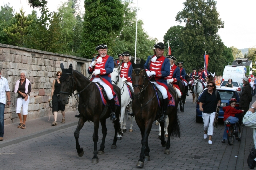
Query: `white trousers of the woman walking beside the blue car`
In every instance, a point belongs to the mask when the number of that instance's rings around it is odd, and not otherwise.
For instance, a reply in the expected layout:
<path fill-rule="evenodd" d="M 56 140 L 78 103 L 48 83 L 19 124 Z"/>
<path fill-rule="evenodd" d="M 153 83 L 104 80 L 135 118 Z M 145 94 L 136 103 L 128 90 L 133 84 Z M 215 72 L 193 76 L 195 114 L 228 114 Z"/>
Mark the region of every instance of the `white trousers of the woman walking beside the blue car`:
<path fill-rule="evenodd" d="M 204 122 L 204 130 L 208 130 L 207 131 L 207 135 L 211 135 L 213 134 L 213 122 L 214 122 L 214 118 L 215 118 L 215 113 L 204 113 L 202 112 L 202 118 L 203 118 L 203 122 Z"/>

